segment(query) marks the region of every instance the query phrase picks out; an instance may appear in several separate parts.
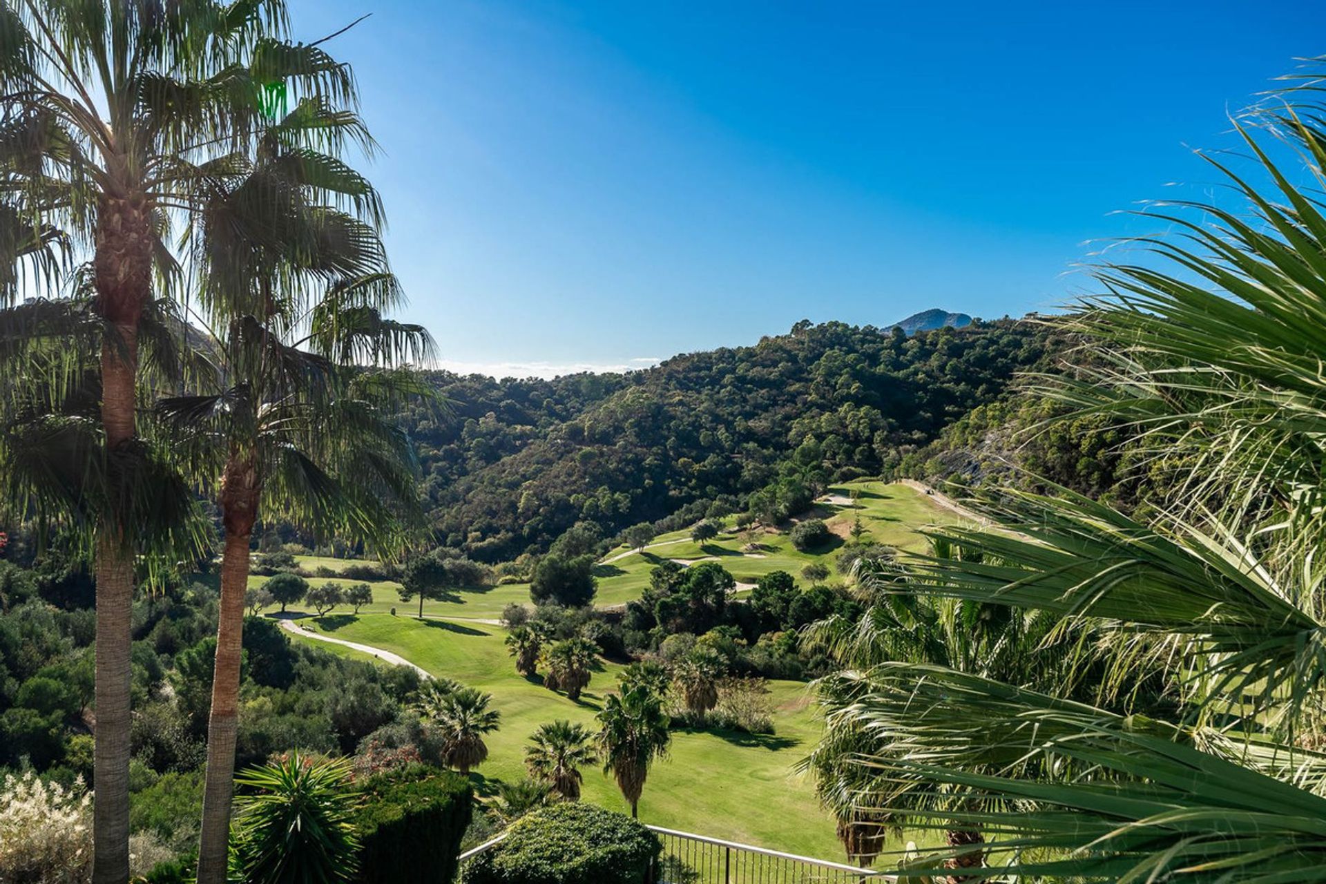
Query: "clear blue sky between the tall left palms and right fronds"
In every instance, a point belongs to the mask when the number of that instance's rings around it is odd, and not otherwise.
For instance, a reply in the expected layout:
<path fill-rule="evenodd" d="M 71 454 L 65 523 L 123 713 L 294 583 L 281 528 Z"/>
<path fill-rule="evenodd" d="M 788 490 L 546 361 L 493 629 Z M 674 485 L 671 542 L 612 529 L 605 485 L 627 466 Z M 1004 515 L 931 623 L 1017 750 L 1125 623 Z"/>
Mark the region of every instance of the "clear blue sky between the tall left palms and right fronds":
<path fill-rule="evenodd" d="M 801 318 L 1048 309 L 1326 4 L 293 0 L 383 147 L 447 364 L 644 364 Z"/>

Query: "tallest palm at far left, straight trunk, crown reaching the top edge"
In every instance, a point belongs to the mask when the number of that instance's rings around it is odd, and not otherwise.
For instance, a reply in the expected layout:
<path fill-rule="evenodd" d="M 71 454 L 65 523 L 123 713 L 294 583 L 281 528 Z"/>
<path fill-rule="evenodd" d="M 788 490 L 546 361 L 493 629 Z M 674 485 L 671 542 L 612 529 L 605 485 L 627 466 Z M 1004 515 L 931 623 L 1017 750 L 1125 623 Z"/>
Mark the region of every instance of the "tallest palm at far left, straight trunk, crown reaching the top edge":
<path fill-rule="evenodd" d="M 224 175 L 263 115 L 268 89 L 343 102 L 349 70 L 316 45 L 282 41 L 280 0 L 66 4 L 0 8 L 0 264 L 68 233 L 91 250 L 102 322 L 99 424 L 111 461 L 137 459 L 137 375 L 154 274 L 170 282 L 170 220 L 199 208 L 200 183 Z M 12 298 L 19 274 L 0 273 Z M 113 497 L 134 469 L 107 470 Z M 95 531 L 97 730 L 94 881 L 129 876 L 130 600 L 142 538 L 130 521 Z"/>

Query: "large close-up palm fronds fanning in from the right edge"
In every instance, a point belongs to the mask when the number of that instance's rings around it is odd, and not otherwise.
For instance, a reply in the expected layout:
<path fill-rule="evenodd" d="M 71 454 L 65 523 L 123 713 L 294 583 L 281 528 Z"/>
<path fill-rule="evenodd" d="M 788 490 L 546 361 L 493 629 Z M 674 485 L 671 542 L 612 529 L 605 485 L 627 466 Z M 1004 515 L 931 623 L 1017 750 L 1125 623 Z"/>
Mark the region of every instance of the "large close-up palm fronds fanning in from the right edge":
<path fill-rule="evenodd" d="M 855 700 L 830 726 L 887 734 L 857 765 L 875 783 L 991 797 L 980 818 L 1000 836 L 987 850 L 1006 860 L 1004 873 L 1326 880 L 1318 94 L 1309 81 L 1284 97 L 1293 103 L 1238 121 L 1252 171 L 1209 162 L 1244 204 L 1158 212 L 1185 235 L 1146 241 L 1172 270 L 1102 268 L 1107 297 L 1069 317 L 1090 350 L 1067 378 L 1033 379 L 1034 395 L 1077 416 L 1140 431 L 1143 453 L 1170 470 L 1146 514 L 1053 486 L 1002 489 L 973 500 L 998 530 L 940 533 L 979 555 L 908 569 L 916 595 L 1087 624 L 1105 651 L 1086 661 L 1101 698 L 878 663 L 857 673 Z M 1130 714 L 1134 692 L 1156 679 L 1181 705 Z M 969 815 L 937 801 L 915 814 L 939 824 Z"/>

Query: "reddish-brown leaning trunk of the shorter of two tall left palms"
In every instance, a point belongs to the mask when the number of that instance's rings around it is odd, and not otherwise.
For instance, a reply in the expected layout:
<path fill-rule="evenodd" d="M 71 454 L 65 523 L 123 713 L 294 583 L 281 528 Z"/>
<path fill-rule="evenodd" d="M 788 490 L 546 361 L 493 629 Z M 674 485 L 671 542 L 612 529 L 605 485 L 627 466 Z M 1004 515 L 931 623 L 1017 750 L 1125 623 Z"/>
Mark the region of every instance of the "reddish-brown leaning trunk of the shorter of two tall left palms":
<path fill-rule="evenodd" d="M 207 775 L 203 827 L 198 846 L 198 884 L 224 884 L 235 791 L 235 741 L 239 732 L 240 655 L 244 590 L 248 588 L 249 538 L 257 521 L 257 473 L 251 459 L 232 456 L 221 484 L 221 603 L 216 623 L 212 710 L 207 721 Z"/>

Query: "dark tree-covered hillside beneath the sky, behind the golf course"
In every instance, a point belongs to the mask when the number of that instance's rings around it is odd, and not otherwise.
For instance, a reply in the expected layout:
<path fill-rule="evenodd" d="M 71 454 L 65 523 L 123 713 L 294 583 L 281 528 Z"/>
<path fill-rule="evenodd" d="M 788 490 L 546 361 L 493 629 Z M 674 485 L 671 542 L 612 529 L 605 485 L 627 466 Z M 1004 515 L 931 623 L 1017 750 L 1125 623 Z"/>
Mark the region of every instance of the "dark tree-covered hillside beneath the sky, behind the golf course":
<path fill-rule="evenodd" d="M 404 420 L 439 542 L 499 562 L 578 521 L 611 535 L 682 508 L 776 514 L 825 481 L 887 474 L 1058 346 L 1010 319 L 910 338 L 800 322 L 627 375 L 435 372 L 451 414 Z"/>

